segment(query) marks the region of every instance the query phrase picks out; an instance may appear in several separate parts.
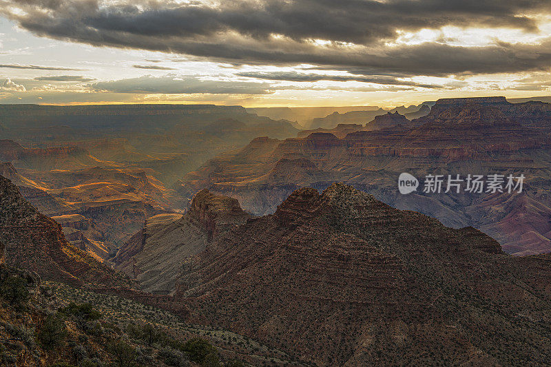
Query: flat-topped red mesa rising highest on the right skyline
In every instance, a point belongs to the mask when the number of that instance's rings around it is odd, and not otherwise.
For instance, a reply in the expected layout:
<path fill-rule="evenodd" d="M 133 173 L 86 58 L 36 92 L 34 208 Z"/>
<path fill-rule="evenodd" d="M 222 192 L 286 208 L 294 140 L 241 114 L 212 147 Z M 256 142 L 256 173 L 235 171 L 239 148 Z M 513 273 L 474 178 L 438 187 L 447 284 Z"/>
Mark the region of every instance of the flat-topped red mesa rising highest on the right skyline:
<path fill-rule="evenodd" d="M 421 120 L 421 119 L 419 119 Z M 419 123 L 417 120 L 416 123 Z M 407 132 L 393 129 L 382 134 L 355 132 L 345 138 L 362 154 L 437 157 L 446 160 L 486 159 L 490 153 L 511 154 L 520 149 L 551 147 L 549 136 L 510 120 L 495 107 L 466 104 L 450 107 Z M 374 150 L 373 148 L 377 149 Z"/>

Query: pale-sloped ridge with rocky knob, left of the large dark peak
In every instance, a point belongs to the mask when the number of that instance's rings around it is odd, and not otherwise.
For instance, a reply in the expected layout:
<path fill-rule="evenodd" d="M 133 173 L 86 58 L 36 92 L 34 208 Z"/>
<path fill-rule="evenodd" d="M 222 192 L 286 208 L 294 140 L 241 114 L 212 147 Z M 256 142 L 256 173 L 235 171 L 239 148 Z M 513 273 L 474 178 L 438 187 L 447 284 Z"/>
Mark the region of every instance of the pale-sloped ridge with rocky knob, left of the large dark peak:
<path fill-rule="evenodd" d="M 121 247 L 112 262 L 144 291 L 171 293 L 186 258 L 204 251 L 209 242 L 248 218 L 236 199 L 202 190 L 184 216 L 147 218 L 145 227 Z"/>

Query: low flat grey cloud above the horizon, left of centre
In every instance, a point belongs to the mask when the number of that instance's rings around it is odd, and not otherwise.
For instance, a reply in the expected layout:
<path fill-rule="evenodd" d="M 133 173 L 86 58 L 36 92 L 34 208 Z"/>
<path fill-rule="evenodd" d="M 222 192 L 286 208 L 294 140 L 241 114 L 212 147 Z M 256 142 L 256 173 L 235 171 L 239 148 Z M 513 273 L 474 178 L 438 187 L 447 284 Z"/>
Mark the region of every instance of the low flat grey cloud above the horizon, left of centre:
<path fill-rule="evenodd" d="M 167 75 L 161 77 L 141 76 L 139 78 L 102 81 L 90 85 L 96 91 L 146 94 L 268 94 L 267 83 L 239 81 L 201 80 L 193 76 Z"/>

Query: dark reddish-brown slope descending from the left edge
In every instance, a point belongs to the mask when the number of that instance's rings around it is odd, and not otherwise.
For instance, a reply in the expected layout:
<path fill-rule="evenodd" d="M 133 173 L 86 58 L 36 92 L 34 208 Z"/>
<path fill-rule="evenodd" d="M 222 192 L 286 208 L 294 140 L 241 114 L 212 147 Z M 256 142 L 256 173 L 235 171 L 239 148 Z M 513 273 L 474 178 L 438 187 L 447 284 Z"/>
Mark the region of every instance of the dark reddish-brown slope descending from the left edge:
<path fill-rule="evenodd" d="M 6 263 L 47 280 L 74 285 L 121 284 L 114 271 L 72 246 L 61 226 L 39 213 L 10 180 L 0 176 L 0 241 Z"/>

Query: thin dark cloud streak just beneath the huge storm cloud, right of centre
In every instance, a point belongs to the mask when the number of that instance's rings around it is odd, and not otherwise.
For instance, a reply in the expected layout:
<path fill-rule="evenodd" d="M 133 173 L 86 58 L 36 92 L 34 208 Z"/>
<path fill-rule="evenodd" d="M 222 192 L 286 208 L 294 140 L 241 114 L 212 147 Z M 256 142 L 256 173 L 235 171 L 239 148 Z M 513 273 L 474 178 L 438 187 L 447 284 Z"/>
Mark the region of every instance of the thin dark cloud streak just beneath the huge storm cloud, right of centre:
<path fill-rule="evenodd" d="M 389 76 L 338 76 L 322 74 L 301 74 L 298 72 L 239 72 L 238 76 L 247 76 L 248 78 L 258 78 L 269 81 L 298 81 L 298 82 L 316 82 L 316 81 L 359 81 L 362 83 L 373 83 L 383 85 L 408 85 L 424 88 L 441 88 L 441 85 L 415 83 L 413 81 L 399 81 Z"/>

